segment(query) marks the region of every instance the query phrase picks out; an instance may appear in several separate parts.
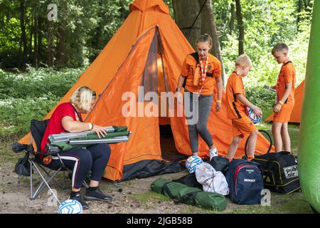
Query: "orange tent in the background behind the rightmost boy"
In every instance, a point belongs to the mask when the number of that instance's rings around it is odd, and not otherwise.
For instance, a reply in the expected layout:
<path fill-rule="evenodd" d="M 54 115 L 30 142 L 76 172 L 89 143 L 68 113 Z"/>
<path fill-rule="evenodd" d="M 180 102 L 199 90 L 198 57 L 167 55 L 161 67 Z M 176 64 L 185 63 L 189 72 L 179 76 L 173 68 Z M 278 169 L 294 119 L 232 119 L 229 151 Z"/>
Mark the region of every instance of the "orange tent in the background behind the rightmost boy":
<path fill-rule="evenodd" d="M 302 101 L 304 100 L 304 81 L 294 90 L 294 108 L 290 115 L 289 123 L 300 123 L 301 111 L 302 111 Z M 272 113 L 266 121 L 272 121 L 274 118 L 274 113 Z"/>

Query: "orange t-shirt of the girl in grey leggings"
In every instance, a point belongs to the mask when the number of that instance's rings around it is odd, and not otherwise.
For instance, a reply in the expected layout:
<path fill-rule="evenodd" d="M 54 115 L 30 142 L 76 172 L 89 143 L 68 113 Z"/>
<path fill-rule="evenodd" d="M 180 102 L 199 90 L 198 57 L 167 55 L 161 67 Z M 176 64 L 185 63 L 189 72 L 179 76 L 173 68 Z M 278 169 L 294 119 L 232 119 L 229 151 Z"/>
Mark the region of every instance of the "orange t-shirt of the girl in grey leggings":
<path fill-rule="evenodd" d="M 193 93 L 198 93 L 201 90 L 201 95 L 212 95 L 215 90 L 215 78 L 221 77 L 221 63 L 218 58 L 208 54 L 208 71 L 206 81 L 201 86 L 193 86 L 193 74 L 196 71 L 197 63 L 193 56 L 186 56 L 183 61 L 181 76 L 186 77 L 186 89 Z M 212 75 L 213 77 L 208 76 Z"/>

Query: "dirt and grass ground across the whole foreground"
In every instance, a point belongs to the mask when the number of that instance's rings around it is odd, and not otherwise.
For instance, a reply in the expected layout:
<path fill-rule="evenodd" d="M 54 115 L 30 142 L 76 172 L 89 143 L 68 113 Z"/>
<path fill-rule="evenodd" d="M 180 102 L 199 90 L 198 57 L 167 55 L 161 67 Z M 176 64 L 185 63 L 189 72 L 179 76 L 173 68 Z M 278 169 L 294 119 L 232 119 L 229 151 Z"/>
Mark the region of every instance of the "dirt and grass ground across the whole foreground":
<path fill-rule="evenodd" d="M 161 150 L 171 150 L 172 142 L 167 138 L 161 140 Z M 17 139 L 17 138 L 16 138 Z M 48 194 L 48 188 L 45 188 L 41 195 L 36 199 L 30 199 L 29 177 L 21 177 L 14 172 L 14 166 L 18 157 L 23 157 L 23 153 L 18 155 L 11 151 L 11 143 L 16 139 L 9 140 L 1 138 L 0 142 L 0 214 L 40 214 L 53 213 L 58 211 L 58 203 L 53 195 Z M 84 211 L 85 214 L 203 214 L 203 213 L 312 213 L 308 202 L 304 199 L 301 192 L 294 192 L 291 195 L 279 195 L 272 192 L 271 206 L 261 205 L 237 205 L 228 199 L 228 207 L 223 212 L 217 212 L 210 209 L 203 209 L 187 204 L 176 204 L 169 197 L 165 197 L 151 191 L 151 183 L 159 177 L 169 180 L 177 179 L 186 175 L 188 172 L 183 170 L 178 173 L 159 175 L 144 179 L 127 180 L 114 185 L 114 182 L 103 179 L 100 182 L 100 189 L 106 192 L 114 199 L 112 202 L 92 202 L 87 203 L 90 209 Z M 41 180 L 35 175 L 36 181 Z M 63 180 L 62 172 L 57 180 Z M 70 182 L 70 180 L 67 181 Z M 58 198 L 61 202 L 68 199 L 70 189 L 62 190 L 58 185 L 51 185 L 58 192 Z M 82 190 L 84 191 L 84 190 Z"/>

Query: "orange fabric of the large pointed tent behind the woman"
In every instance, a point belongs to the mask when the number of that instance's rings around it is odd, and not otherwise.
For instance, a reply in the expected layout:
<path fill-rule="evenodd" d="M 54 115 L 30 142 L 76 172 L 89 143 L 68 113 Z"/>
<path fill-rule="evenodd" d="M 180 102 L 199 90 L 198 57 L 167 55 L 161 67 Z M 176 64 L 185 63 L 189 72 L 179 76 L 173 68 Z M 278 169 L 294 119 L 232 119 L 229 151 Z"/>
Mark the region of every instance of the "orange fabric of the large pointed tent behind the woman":
<path fill-rule="evenodd" d="M 122 95 L 129 91 L 137 96 L 156 26 L 159 26 L 161 43 L 164 47 L 163 67 L 168 90 L 175 92 L 183 65 L 183 56 L 192 53 L 193 48 L 171 19 L 169 11 L 164 11 L 164 8 L 167 6 L 161 0 L 134 1 L 131 13 L 117 33 L 59 102 L 68 102 L 76 88 L 88 86 L 95 90 L 100 98 L 92 112 L 83 116 L 84 119 L 87 118 L 85 121 L 104 126 L 126 125 L 132 131 L 128 142 L 110 145 L 110 161 L 105 173 L 105 177 L 110 180 L 121 180 L 124 165 L 131 165 L 142 160 L 162 160 L 159 135 L 161 118 L 146 117 L 146 115 L 125 117 L 122 115 L 122 108 L 125 103 L 129 102 L 129 99 L 123 100 Z M 164 90 L 163 85 L 159 84 L 159 91 Z M 136 109 L 147 108 L 146 105 L 148 105 L 148 103 L 137 103 L 137 99 L 133 99 L 132 102 Z M 176 109 L 175 106 L 173 111 L 176 112 Z M 45 118 L 50 118 L 54 110 L 55 108 Z M 233 139 L 231 120 L 228 120 L 226 115 L 226 96 L 223 93 L 222 110 L 216 113 L 213 102 L 208 120 L 208 130 L 218 147 L 219 155 L 227 154 Z M 168 120 L 168 118 L 162 120 Z M 169 120 L 166 123 L 171 124 L 176 149 L 181 154 L 191 155 L 186 118 L 184 116 L 170 117 Z M 244 155 L 245 140 L 242 141 L 244 142 L 240 143 L 235 157 Z M 30 143 L 30 134 L 19 142 Z M 260 151 L 265 150 L 266 145 L 267 140 L 260 135 L 257 140 L 257 154 L 261 154 Z M 199 155 L 208 157 L 208 146 L 202 139 L 199 140 Z"/>

